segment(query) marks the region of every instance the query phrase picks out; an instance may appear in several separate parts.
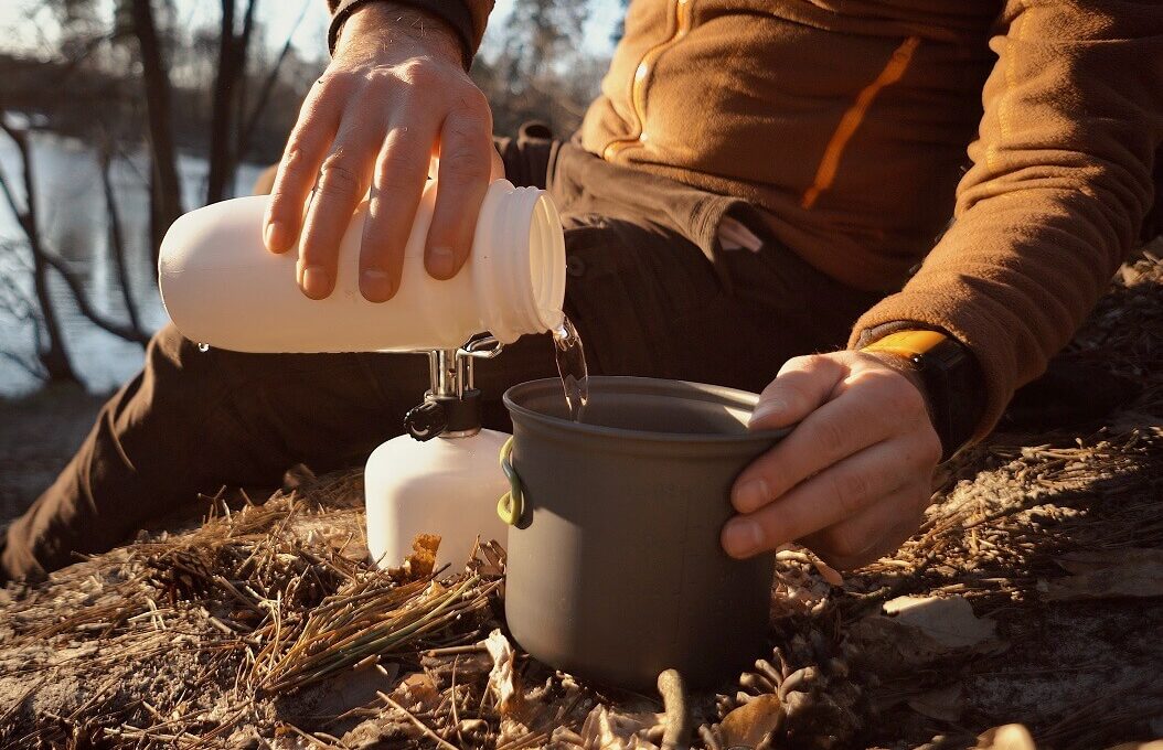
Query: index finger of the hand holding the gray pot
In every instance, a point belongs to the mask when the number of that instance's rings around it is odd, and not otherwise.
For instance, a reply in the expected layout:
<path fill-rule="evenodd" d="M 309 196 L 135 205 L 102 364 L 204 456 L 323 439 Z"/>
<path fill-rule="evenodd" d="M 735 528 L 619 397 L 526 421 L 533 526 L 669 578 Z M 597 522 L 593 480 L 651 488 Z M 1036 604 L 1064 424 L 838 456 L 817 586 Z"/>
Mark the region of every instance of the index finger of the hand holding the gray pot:
<path fill-rule="evenodd" d="M 802 370 L 791 374 L 806 377 Z M 751 513 L 812 474 L 869 445 L 913 430 L 928 420 L 923 397 L 904 377 L 892 371 L 868 371 L 854 377 L 858 379 L 858 388 L 846 388 L 847 383 L 842 383 L 835 400 L 811 412 L 787 437 L 739 476 L 732 492 L 736 510 Z M 776 383 L 780 379 L 784 376 Z M 847 380 L 851 383 L 851 379 Z M 822 377 L 818 384 L 807 380 L 792 383 L 795 390 L 785 384 L 779 398 L 798 409 L 834 380 Z M 809 388 L 815 388 L 815 392 L 805 394 Z"/>

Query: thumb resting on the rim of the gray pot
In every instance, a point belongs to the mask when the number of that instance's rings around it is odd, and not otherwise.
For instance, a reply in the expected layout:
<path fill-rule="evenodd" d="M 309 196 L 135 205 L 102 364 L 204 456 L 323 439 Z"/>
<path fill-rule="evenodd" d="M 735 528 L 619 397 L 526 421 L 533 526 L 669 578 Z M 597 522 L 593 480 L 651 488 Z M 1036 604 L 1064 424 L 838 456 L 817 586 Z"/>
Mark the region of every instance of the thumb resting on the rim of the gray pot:
<path fill-rule="evenodd" d="M 748 427 L 768 430 L 801 422 L 832 400 L 848 367 L 825 355 L 789 359 L 776 379 L 763 390 Z"/>

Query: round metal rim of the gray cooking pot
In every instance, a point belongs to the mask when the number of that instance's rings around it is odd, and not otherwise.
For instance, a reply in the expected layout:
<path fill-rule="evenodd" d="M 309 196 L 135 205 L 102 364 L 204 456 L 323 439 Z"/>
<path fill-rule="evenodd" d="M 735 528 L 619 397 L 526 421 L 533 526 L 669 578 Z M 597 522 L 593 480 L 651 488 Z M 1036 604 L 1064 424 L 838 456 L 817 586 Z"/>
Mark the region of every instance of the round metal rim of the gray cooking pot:
<path fill-rule="evenodd" d="M 593 388 L 594 385 L 612 386 L 618 390 L 618 386 L 622 386 L 622 392 L 629 393 L 648 393 L 651 395 L 679 398 L 676 394 L 669 394 L 665 387 L 678 386 L 680 388 L 691 388 L 693 391 L 700 392 L 702 395 L 708 398 L 701 399 L 707 402 L 722 402 L 723 406 L 730 406 L 730 401 L 735 402 L 748 402 L 740 403 L 741 407 L 754 406 L 755 401 L 758 400 L 759 395 L 757 393 L 751 393 L 750 391 L 742 391 L 740 388 L 732 388 L 722 385 L 712 385 L 707 383 L 695 383 L 693 380 L 672 380 L 666 378 L 642 378 L 633 376 L 591 376 L 590 387 Z M 573 422 L 571 420 L 562 419 L 559 416 L 551 416 L 549 414 L 543 414 L 542 412 L 536 412 L 527 406 L 518 403 L 514 400 L 514 394 L 516 397 L 522 395 L 525 391 L 538 391 L 545 387 L 555 387 L 561 390 L 559 378 L 540 378 L 537 380 L 526 380 L 525 383 L 519 383 L 511 386 L 505 391 L 501 397 L 505 408 L 509 410 L 511 415 L 521 415 L 522 417 L 533 420 L 542 424 L 543 427 L 551 429 L 562 429 L 572 434 L 579 435 L 592 435 L 600 437 L 619 437 L 623 440 L 634 441 L 645 441 L 645 442 L 659 442 L 659 443 L 765 443 L 779 440 L 791 433 L 792 428 L 786 427 L 775 430 L 756 430 L 741 433 L 737 435 L 725 435 L 719 433 L 661 433 L 656 430 L 635 430 L 625 427 L 606 427 L 601 424 L 586 424 L 585 422 Z M 664 387 L 665 386 L 665 387 Z M 563 397 L 564 398 L 564 397 Z"/>

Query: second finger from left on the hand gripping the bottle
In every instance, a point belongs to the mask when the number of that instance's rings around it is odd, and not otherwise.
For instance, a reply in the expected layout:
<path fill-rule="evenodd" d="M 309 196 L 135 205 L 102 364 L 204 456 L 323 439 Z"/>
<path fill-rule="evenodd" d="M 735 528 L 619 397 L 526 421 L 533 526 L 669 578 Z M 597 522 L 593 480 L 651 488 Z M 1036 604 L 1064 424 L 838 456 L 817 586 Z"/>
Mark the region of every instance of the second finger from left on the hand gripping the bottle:
<path fill-rule="evenodd" d="M 340 243 L 368 190 L 381 134 L 373 117 L 349 115 L 323 159 L 299 243 L 297 277 L 302 293 L 311 299 L 323 299 L 335 288 Z"/>

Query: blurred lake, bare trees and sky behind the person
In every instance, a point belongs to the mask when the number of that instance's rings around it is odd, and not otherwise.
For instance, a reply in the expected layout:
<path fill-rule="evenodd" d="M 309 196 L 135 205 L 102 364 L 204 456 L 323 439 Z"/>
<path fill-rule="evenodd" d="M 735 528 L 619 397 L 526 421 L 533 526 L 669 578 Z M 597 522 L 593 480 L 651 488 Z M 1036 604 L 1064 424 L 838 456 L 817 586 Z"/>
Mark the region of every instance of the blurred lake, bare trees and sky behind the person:
<path fill-rule="evenodd" d="M 499 135 L 573 130 L 626 1 L 498 0 L 472 76 Z M 324 0 L 0 2 L 0 522 L 140 369 L 166 227 L 278 160 L 327 27 Z"/>

